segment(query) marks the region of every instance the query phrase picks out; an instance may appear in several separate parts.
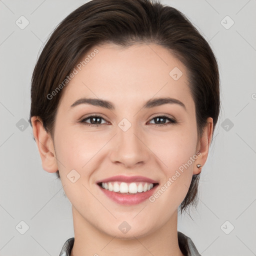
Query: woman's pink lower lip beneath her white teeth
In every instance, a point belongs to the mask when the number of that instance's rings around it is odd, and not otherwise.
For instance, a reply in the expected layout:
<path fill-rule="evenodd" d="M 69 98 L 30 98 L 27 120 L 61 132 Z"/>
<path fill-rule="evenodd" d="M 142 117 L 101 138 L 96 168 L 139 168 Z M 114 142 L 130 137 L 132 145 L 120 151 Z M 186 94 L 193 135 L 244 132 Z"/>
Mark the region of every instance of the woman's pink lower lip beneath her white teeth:
<path fill-rule="evenodd" d="M 109 190 L 101 187 L 100 185 L 98 185 L 98 186 L 101 189 L 101 191 L 104 192 L 104 194 L 106 196 L 108 196 L 110 199 L 112 199 L 113 201 L 115 201 L 119 204 L 122 204 L 122 205 L 134 205 L 134 204 L 141 203 L 142 201 L 144 201 L 148 197 L 150 197 L 154 193 L 158 184 L 146 192 L 139 192 L 136 194 L 116 193 L 114 191 L 109 191 Z"/>

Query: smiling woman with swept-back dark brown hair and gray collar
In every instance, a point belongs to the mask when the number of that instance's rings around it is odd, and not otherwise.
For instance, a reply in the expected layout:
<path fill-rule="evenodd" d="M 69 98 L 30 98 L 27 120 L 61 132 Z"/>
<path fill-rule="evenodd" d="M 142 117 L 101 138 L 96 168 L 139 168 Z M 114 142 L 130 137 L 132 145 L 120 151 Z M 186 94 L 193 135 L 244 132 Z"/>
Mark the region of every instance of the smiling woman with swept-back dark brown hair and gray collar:
<path fill-rule="evenodd" d="M 72 204 L 60 255 L 200 255 L 177 231 L 196 205 L 219 113 L 208 43 L 175 8 L 92 0 L 35 65 L 30 124 Z"/>

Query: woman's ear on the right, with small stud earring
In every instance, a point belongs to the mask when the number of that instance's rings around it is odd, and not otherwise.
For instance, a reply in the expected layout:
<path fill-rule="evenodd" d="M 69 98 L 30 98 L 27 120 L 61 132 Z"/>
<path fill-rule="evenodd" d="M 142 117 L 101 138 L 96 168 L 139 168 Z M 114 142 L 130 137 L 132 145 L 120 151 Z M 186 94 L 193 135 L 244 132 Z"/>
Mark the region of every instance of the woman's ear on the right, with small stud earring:
<path fill-rule="evenodd" d="M 213 130 L 213 119 L 211 117 L 207 118 L 207 124 L 203 129 L 203 134 L 197 142 L 196 153 L 198 155 L 196 161 L 194 161 L 193 174 L 199 174 L 201 167 L 197 167 L 196 164 L 199 163 L 201 166 L 206 162 L 209 146 L 212 139 L 212 130 Z"/>

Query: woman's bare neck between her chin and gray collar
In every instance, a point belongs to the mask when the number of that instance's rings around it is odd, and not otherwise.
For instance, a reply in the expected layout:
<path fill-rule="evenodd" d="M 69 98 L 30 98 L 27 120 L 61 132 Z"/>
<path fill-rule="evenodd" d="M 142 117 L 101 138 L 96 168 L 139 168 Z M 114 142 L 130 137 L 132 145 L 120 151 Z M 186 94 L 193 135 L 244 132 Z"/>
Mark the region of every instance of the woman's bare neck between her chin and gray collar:
<path fill-rule="evenodd" d="M 177 239 L 177 210 L 160 228 L 125 239 L 91 225 L 73 206 L 72 214 L 74 245 L 70 256 L 183 256 Z"/>

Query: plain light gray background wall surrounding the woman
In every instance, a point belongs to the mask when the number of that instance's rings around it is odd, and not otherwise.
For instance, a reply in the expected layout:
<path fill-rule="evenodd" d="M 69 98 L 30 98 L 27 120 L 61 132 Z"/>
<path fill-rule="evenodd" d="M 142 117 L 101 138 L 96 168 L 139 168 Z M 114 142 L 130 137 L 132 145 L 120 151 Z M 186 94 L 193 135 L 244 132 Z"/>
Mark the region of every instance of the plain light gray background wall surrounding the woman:
<path fill-rule="evenodd" d="M 43 42 L 85 2 L 0 0 L 0 255 L 58 255 L 73 236 L 71 204 L 55 173 L 42 169 L 32 128 L 20 119 L 29 116 L 30 79 Z M 202 256 L 256 255 L 256 0 L 161 2 L 186 14 L 209 41 L 221 80 L 222 110 L 198 207 L 190 211 L 194 220 L 179 216 L 178 230 Z M 21 15 L 29 21 L 24 29 L 15 24 Z M 227 15 L 234 21 L 228 29 Z M 21 220 L 29 226 L 24 234 Z"/>

